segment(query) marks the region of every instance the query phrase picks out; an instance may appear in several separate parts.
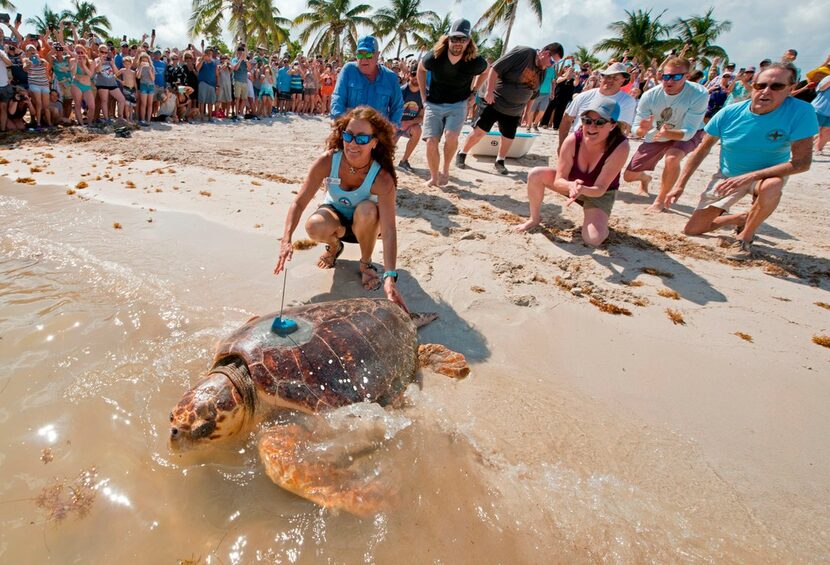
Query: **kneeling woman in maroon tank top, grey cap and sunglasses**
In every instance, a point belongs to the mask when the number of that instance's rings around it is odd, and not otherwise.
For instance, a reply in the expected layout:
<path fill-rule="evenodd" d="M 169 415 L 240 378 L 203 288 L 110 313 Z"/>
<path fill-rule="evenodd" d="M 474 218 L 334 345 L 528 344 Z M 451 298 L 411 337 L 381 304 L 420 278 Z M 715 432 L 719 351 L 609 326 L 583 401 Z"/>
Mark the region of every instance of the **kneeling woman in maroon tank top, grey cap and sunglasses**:
<path fill-rule="evenodd" d="M 517 226 L 516 231 L 539 225 L 545 188 L 550 188 L 568 197 L 567 206 L 573 202 L 582 206 L 585 243 L 597 246 L 605 241 L 620 172 L 628 159 L 628 140 L 617 123 L 619 115 L 619 106 L 608 98 L 596 99 L 582 112 L 582 127 L 565 139 L 556 168 L 536 167 L 530 171 L 530 219 Z"/>

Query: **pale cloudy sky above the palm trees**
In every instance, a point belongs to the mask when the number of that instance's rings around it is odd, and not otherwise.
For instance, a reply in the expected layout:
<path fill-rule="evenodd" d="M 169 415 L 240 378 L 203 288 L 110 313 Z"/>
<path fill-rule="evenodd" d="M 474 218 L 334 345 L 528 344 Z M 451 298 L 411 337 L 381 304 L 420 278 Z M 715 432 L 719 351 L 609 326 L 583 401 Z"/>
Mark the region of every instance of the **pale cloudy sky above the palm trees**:
<path fill-rule="evenodd" d="M 366 0 L 363 0 L 366 1 Z M 542 0 L 543 20 L 540 25 L 530 10 L 529 0 L 518 0 L 516 23 L 510 46 L 517 44 L 541 47 L 558 41 L 565 52 L 577 45 L 590 47 L 609 37 L 608 24 L 625 18 L 625 10 L 651 9 L 653 14 L 666 10 L 663 20 L 702 15 L 709 4 L 688 0 L 662 0 L 659 7 L 643 2 L 624 0 Z M 716 6 L 715 18 L 730 20 L 731 31 L 718 39 L 730 59 L 738 66 L 757 65 L 764 58 L 778 59 L 789 48 L 798 51 L 797 65 L 806 70 L 819 66 L 830 55 L 830 26 L 826 23 L 827 0 L 728 0 Z M 25 19 L 41 14 L 44 5 L 61 11 L 70 7 L 69 0 L 12 0 Z M 359 0 L 352 0 L 356 5 Z M 191 0 L 97 0 L 99 14 L 112 23 L 114 35 L 141 37 L 155 28 L 162 46 L 183 46 L 187 38 Z M 386 2 L 368 2 L 382 6 Z M 476 23 L 490 0 L 422 0 L 425 10 L 444 15 L 451 9 L 454 17 L 465 17 Z M 714 1 L 712 5 L 716 4 Z M 283 17 L 293 18 L 306 9 L 305 0 L 275 0 Z M 782 9 L 786 6 L 786 9 Z M 24 23 L 24 29 L 26 29 Z M 497 30 L 503 33 L 504 30 Z M 292 34 L 292 36 L 294 36 Z M 294 36 L 295 37 L 295 36 Z"/>

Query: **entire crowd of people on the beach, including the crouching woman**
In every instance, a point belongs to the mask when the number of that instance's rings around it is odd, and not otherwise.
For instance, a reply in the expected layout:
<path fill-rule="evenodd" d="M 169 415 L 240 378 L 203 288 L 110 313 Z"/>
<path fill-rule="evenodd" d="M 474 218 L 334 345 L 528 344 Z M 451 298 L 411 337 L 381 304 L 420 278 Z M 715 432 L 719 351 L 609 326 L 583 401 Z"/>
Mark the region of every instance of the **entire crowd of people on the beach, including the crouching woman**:
<path fill-rule="evenodd" d="M 467 155 L 498 125 L 494 168 L 509 174 L 505 159 L 517 131 L 558 131 L 556 167 L 528 174 L 529 219 L 541 222 L 545 189 L 583 208 L 583 241 L 602 244 L 620 182 L 649 196 L 650 172 L 663 163 L 659 188 L 647 211 L 672 206 L 715 145 L 718 173 L 700 197 L 684 231 L 698 235 L 735 229 L 730 256 L 752 256 L 760 225 L 774 212 L 787 179 L 810 168 L 813 152 L 830 139 L 830 57 L 802 77 L 797 52 L 736 71 L 715 57 L 701 68 L 689 46 L 647 65 L 622 54 L 593 68 L 563 46 L 514 47 L 485 60 L 466 19 L 423 56 L 383 61 L 373 36 L 361 37 L 355 60 L 302 55 L 296 58 L 212 46 L 161 50 L 155 33 L 120 46 L 63 24 L 45 35 L 23 36 L 19 21 L 6 24 L 0 51 L 0 130 L 89 124 L 113 116 L 150 121 L 265 119 L 278 113 L 330 116 L 332 133 L 288 211 L 275 272 L 292 256 L 300 217 L 322 186 L 326 202 L 305 224 L 325 244 L 320 268 L 333 268 L 344 242 L 360 246 L 363 286 L 383 286 L 406 309 L 396 287 L 396 170 L 411 172 L 409 159 L 421 140 L 429 179 L 442 187 L 450 167 L 464 169 Z M 71 32 L 71 35 L 70 33 Z M 7 69 L 9 74 L 7 75 Z M 24 118 L 28 117 L 28 122 Z M 465 123 L 471 133 L 459 150 Z M 394 155 L 406 138 L 402 158 Z M 641 142 L 633 149 L 629 138 Z M 443 149 L 442 144 L 443 142 Z M 631 154 L 633 151 L 633 155 Z M 685 161 L 685 164 L 684 164 Z M 751 207 L 730 208 L 745 196 Z M 372 263 L 383 240 L 385 270 Z"/>

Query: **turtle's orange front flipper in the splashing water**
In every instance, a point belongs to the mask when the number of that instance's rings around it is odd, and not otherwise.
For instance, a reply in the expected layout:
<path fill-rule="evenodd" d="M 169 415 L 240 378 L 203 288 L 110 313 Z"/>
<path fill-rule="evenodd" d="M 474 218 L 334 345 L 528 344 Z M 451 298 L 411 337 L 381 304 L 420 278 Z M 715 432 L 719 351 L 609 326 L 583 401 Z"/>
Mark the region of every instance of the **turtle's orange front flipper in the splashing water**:
<path fill-rule="evenodd" d="M 397 478 L 376 450 L 320 449 L 318 430 L 296 423 L 275 425 L 259 438 L 265 472 L 285 490 L 322 506 L 360 517 L 394 505 Z M 325 442 L 324 442 L 325 443 Z M 394 473 L 391 473 L 394 475 Z"/>

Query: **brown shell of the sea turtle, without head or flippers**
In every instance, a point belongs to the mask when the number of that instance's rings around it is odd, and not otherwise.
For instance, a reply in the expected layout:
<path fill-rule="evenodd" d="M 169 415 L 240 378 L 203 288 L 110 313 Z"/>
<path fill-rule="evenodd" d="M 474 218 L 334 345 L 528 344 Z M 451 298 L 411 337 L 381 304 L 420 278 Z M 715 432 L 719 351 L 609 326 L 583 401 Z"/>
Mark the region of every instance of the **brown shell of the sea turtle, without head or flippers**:
<path fill-rule="evenodd" d="M 299 329 L 271 331 L 277 314 L 256 318 L 222 341 L 214 367 L 241 359 L 258 401 L 319 412 L 356 402 L 381 405 L 415 379 L 415 324 L 385 299 L 354 298 L 290 308 Z"/>

